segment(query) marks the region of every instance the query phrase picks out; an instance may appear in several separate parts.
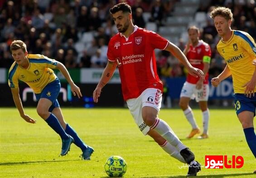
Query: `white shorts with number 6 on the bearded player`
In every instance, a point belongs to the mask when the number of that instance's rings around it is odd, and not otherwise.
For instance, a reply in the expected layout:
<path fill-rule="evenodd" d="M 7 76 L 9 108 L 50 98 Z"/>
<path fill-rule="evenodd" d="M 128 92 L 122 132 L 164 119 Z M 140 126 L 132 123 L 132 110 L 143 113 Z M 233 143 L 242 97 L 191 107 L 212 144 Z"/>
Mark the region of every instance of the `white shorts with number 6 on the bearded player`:
<path fill-rule="evenodd" d="M 150 131 L 150 127 L 143 121 L 142 108 L 144 106 L 150 106 L 159 112 L 162 102 L 162 91 L 156 88 L 147 88 L 139 97 L 129 99 L 126 102 L 138 128 L 144 135 L 147 135 Z"/>

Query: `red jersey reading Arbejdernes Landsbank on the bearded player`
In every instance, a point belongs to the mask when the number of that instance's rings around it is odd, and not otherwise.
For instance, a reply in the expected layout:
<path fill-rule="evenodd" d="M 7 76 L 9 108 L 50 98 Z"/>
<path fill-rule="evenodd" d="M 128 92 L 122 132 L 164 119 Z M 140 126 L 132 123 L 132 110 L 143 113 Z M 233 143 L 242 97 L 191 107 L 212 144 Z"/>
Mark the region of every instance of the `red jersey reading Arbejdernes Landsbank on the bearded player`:
<path fill-rule="evenodd" d="M 155 32 L 138 28 L 126 38 L 118 33 L 108 44 L 107 57 L 117 63 L 125 101 L 137 98 L 147 88 L 163 91 L 157 70 L 154 49 L 164 50 L 169 41 Z"/>

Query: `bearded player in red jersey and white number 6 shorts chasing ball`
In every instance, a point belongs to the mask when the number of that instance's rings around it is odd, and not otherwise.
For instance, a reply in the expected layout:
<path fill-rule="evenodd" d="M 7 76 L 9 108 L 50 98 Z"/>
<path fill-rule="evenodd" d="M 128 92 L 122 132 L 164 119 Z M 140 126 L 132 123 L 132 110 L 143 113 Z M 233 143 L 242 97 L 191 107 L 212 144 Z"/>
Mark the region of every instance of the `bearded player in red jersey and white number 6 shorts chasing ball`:
<path fill-rule="evenodd" d="M 94 102 L 98 102 L 101 89 L 118 66 L 124 100 L 140 131 L 144 135 L 150 135 L 169 155 L 189 164 L 188 176 L 196 175 L 201 168 L 194 160 L 194 154 L 179 140 L 169 125 L 158 118 L 163 84 L 157 75 L 154 49 L 171 52 L 193 76 L 203 79 L 203 72 L 192 67 L 173 43 L 152 31 L 133 25 L 131 8 L 126 3 L 115 5 L 110 13 L 119 33 L 108 44 L 108 63 L 93 91 Z"/>

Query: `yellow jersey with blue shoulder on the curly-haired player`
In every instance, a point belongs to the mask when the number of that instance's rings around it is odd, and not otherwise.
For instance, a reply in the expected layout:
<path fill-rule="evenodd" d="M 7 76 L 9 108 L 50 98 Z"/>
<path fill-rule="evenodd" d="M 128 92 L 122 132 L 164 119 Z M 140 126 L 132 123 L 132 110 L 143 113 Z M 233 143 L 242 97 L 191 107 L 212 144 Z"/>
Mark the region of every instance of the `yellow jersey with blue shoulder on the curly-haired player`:
<path fill-rule="evenodd" d="M 232 37 L 217 44 L 217 50 L 225 59 L 232 74 L 234 93 L 244 93 L 244 84 L 251 80 L 255 71 L 256 44 L 246 32 L 232 30 Z M 254 89 L 256 92 L 256 88 Z"/>

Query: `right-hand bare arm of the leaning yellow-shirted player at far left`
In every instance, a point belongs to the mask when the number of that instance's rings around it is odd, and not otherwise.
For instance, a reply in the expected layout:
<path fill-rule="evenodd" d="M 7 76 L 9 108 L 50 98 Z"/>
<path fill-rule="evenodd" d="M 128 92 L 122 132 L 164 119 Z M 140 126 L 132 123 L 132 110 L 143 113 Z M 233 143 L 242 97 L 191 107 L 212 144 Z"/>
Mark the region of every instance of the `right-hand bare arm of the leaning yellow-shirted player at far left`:
<path fill-rule="evenodd" d="M 78 98 L 82 97 L 82 93 L 80 91 L 80 88 L 77 87 L 77 85 L 73 82 L 72 78 L 70 77 L 67 68 L 63 65 L 63 63 L 57 62 L 56 68 L 63 74 L 63 76 L 68 81 L 71 91 L 74 96 L 77 95 Z"/>

